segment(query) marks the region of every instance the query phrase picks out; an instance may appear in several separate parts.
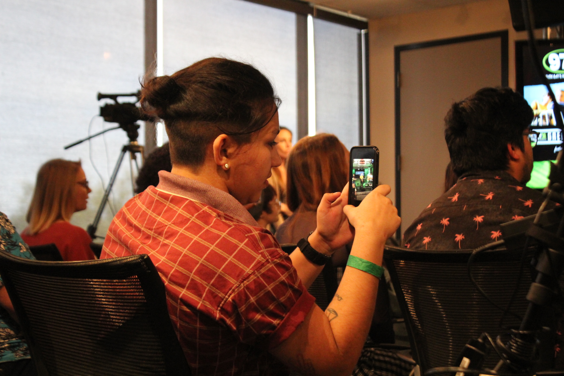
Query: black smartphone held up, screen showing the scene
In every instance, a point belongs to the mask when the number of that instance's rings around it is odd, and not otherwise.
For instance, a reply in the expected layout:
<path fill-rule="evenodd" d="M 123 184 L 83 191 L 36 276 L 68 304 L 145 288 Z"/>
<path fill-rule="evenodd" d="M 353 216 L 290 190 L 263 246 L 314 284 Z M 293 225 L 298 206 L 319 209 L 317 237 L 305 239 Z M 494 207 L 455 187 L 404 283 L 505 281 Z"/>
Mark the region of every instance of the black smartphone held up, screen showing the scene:
<path fill-rule="evenodd" d="M 378 185 L 380 151 L 375 146 L 355 146 L 349 164 L 349 204 L 359 206 Z"/>

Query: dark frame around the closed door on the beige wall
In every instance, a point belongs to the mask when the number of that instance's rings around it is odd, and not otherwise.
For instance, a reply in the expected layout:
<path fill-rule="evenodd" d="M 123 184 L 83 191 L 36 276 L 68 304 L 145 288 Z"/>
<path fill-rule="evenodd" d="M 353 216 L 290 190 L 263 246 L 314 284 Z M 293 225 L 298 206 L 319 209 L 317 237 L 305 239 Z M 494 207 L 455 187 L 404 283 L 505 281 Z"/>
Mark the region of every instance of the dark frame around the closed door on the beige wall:
<path fill-rule="evenodd" d="M 454 43 L 464 43 L 471 41 L 479 41 L 481 39 L 501 38 L 501 86 L 509 86 L 509 32 L 508 30 L 500 30 L 497 32 L 472 34 L 469 36 L 436 39 L 434 41 L 409 43 L 408 45 L 394 46 L 394 94 L 395 94 L 395 206 L 398 209 L 398 215 L 401 216 L 402 207 L 402 175 L 401 175 L 401 61 L 400 54 L 402 51 L 417 50 L 418 48 L 428 48 L 444 45 L 452 45 Z M 398 241 L 402 238 L 401 227 L 396 232 Z"/>

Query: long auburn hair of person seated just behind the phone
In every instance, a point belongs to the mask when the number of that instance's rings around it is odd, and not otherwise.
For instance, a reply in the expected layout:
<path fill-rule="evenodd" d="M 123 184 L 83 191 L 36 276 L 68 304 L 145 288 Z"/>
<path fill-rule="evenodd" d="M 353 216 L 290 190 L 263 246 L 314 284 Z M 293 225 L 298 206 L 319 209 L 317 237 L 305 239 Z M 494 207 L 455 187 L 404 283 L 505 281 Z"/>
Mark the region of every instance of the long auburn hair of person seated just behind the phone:
<path fill-rule="evenodd" d="M 347 184 L 349 151 L 335 135 L 306 136 L 292 148 L 287 169 L 290 210 L 316 210 L 325 193 L 340 192 Z"/>

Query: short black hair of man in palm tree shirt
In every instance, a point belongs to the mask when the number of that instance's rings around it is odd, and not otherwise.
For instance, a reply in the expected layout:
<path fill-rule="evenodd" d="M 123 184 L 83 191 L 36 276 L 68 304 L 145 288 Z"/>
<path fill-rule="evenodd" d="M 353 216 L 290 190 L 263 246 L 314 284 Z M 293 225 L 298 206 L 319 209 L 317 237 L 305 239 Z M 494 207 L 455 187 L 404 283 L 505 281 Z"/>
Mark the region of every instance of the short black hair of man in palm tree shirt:
<path fill-rule="evenodd" d="M 532 118 L 527 101 L 508 87 L 484 87 L 453 104 L 444 118 L 453 172 L 506 170 L 507 144 L 525 150 L 523 131 Z"/>

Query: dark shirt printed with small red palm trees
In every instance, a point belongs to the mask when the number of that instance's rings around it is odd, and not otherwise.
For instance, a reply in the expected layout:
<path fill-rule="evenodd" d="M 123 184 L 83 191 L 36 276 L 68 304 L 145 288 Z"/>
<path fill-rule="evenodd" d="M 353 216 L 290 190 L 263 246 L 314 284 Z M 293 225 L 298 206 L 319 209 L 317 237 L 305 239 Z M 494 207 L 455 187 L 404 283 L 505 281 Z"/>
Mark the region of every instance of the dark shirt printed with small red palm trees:
<path fill-rule="evenodd" d="M 536 214 L 544 198 L 505 171 L 473 171 L 431 202 L 403 235 L 408 248 L 475 249 L 501 240 L 500 224 Z M 546 210 L 553 209 L 553 202 Z"/>

